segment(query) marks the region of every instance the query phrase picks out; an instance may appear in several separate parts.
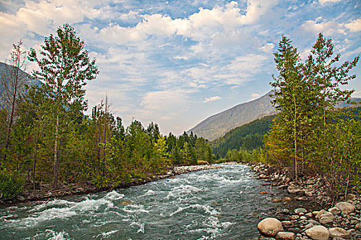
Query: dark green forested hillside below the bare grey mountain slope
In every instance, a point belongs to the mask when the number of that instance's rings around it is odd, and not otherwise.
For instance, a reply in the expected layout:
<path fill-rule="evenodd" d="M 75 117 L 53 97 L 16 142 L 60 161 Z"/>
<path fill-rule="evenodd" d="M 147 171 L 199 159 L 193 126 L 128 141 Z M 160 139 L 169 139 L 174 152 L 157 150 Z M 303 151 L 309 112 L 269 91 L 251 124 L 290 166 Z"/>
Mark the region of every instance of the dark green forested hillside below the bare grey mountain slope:
<path fill-rule="evenodd" d="M 263 145 L 263 136 L 270 130 L 272 120 L 276 115 L 256 119 L 234 128 L 226 135 L 210 142 L 213 154 L 218 154 L 222 158 L 226 156 L 228 149 L 239 149 L 243 147 L 248 150 L 261 147 Z"/>

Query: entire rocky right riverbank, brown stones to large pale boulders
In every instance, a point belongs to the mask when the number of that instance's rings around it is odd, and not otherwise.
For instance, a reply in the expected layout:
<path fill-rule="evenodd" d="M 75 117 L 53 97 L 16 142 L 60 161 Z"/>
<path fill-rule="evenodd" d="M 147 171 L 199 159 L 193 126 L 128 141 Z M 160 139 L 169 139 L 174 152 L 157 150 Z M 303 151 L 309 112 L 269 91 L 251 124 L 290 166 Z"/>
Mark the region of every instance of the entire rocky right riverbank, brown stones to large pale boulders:
<path fill-rule="evenodd" d="M 247 165 L 252 166 L 260 179 L 270 182 L 271 189 L 278 187 L 289 193 L 287 197 L 274 197 L 272 202 L 296 202 L 299 205 L 294 211 L 283 208 L 274 217 L 260 221 L 257 226 L 261 234 L 259 239 L 361 239 L 361 197 L 353 192 L 355 189 L 333 204 L 327 196 L 327 184 L 319 176 L 304 176 L 296 183 L 289 177 L 288 169 Z M 303 208 L 305 202 L 313 203 L 314 209 Z"/>

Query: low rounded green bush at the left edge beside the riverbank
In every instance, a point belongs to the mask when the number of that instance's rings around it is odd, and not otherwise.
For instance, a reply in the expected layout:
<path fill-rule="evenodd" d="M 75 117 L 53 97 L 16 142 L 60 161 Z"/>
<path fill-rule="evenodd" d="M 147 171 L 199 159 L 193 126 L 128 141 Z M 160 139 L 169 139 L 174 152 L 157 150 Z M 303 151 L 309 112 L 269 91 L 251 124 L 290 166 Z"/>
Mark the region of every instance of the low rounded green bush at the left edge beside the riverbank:
<path fill-rule="evenodd" d="M 24 181 L 6 169 L 0 171 L 0 199 L 15 197 L 23 191 Z"/>

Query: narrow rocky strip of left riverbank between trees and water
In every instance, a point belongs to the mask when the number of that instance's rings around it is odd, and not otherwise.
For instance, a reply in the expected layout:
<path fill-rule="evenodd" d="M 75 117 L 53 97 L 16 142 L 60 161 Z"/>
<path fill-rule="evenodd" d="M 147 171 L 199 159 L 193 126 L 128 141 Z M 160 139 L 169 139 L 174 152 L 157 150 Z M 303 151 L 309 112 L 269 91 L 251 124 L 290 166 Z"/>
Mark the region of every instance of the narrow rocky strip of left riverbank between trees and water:
<path fill-rule="evenodd" d="M 92 184 L 91 182 L 87 182 L 82 184 L 63 186 L 61 187 L 61 189 L 51 189 L 50 185 L 43 184 L 39 186 L 40 188 L 39 190 L 24 191 L 23 193 L 17 195 L 16 197 L 6 200 L 0 200 L 0 205 L 17 204 L 19 202 L 32 202 L 39 200 L 54 200 L 56 198 L 65 197 L 67 195 L 80 195 L 80 194 L 98 193 L 101 191 L 111 191 L 113 189 L 125 189 L 132 186 L 146 184 L 148 182 L 161 180 L 164 178 L 172 178 L 173 176 L 189 173 L 191 171 L 201 171 L 206 169 L 217 169 L 217 168 L 220 168 L 220 166 L 194 165 L 194 166 L 168 167 L 168 171 L 165 174 L 155 175 L 147 178 L 137 178 L 131 180 L 130 182 L 118 182 L 116 187 L 98 188 L 96 187 L 95 184 Z"/>

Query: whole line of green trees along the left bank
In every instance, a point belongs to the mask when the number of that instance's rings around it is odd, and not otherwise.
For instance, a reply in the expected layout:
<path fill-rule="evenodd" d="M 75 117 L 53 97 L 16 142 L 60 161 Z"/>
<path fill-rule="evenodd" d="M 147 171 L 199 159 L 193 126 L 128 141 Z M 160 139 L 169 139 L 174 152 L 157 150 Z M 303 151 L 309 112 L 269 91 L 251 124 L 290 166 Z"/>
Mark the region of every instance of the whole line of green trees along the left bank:
<path fill-rule="evenodd" d="M 41 86 L 25 86 L 28 76 L 19 69 L 27 60 L 37 64 L 32 77 Z M 135 120 L 124 128 L 107 96 L 84 115 L 84 86 L 98 68 L 70 25 L 45 38 L 39 52 L 14 45 L 7 66 L 1 76 L 6 104 L 0 110 L 0 198 L 16 195 L 26 183 L 34 189 L 79 182 L 116 187 L 168 165 L 212 161 L 208 141 L 193 134 L 162 136 L 157 124 L 144 128 Z"/>

